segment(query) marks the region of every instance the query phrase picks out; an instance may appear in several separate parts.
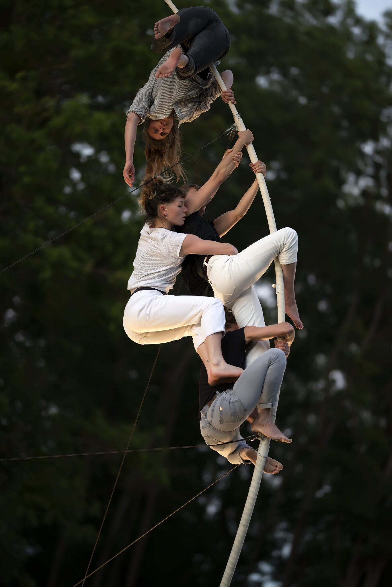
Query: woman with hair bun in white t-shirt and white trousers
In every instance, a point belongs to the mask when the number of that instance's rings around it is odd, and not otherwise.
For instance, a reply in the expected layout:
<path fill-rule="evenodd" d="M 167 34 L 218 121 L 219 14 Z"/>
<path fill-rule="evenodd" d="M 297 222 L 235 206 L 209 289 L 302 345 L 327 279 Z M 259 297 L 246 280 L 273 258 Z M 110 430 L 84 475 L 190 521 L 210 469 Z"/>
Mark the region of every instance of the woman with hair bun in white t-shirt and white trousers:
<path fill-rule="evenodd" d="M 242 369 L 222 357 L 225 333 L 222 302 L 202 296 L 167 295 L 181 271 L 186 255 L 236 255 L 233 245 L 178 234 L 173 225 L 185 220 L 185 193 L 160 177 L 146 177 L 140 195 L 145 225 L 140 231 L 134 271 L 128 281 L 130 299 L 125 307 L 126 334 L 140 345 L 160 344 L 192 336 L 196 352 L 206 343 L 206 369 L 210 385 L 236 380 Z"/>

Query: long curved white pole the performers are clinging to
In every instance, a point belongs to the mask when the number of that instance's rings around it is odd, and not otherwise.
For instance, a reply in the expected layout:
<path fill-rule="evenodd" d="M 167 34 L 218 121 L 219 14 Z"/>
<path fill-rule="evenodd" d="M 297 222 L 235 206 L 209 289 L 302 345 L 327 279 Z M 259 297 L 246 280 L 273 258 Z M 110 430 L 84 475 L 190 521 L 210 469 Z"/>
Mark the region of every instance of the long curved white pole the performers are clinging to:
<path fill-rule="evenodd" d="M 166 4 L 169 8 L 172 9 L 174 14 L 177 14 L 178 9 L 173 4 L 171 0 L 165 0 Z M 219 83 L 220 88 L 226 90 L 225 83 L 223 82 L 222 77 L 220 76 L 218 70 L 216 69 L 215 65 L 210 65 L 212 73 L 215 75 L 217 82 Z M 246 130 L 246 126 L 243 123 L 242 117 L 240 116 L 238 110 L 236 109 L 235 105 L 229 102 L 230 110 L 233 113 L 234 122 L 236 123 L 238 130 Z M 256 151 L 254 150 L 253 144 L 246 145 L 246 150 L 249 154 L 250 161 L 252 163 L 256 163 L 258 160 Z M 264 176 L 262 173 L 256 173 L 257 181 L 259 182 L 260 192 L 262 194 L 264 208 L 267 214 L 267 221 L 270 232 L 276 232 L 276 224 L 274 213 L 272 210 L 271 200 L 269 197 L 269 193 L 267 190 L 266 182 L 264 181 Z M 277 321 L 284 322 L 284 288 L 283 288 L 283 273 L 282 267 L 278 259 L 275 259 L 275 273 L 276 273 L 276 284 L 274 284 L 274 288 L 276 288 L 276 295 L 277 295 Z M 272 410 L 272 420 L 275 421 L 276 418 L 276 407 Z M 254 465 L 254 471 L 252 476 L 252 481 L 250 483 L 249 493 L 246 498 L 244 511 L 240 520 L 240 525 L 237 530 L 236 538 L 234 539 L 234 544 L 232 551 L 230 552 L 229 560 L 227 561 L 225 573 L 223 573 L 222 581 L 220 582 L 220 587 L 229 587 L 230 583 L 232 582 L 233 574 L 237 566 L 237 561 L 240 556 L 240 552 L 242 550 L 242 545 L 244 543 L 244 539 L 246 536 L 247 529 L 249 527 L 250 518 L 252 517 L 254 504 L 256 503 L 257 494 L 259 492 L 260 483 L 262 481 L 263 476 L 263 468 L 264 464 L 266 463 L 266 458 L 268 456 L 268 451 L 270 447 L 270 439 L 263 436 L 262 440 L 260 440 L 259 450 L 257 451 L 257 460 L 256 465 Z"/>

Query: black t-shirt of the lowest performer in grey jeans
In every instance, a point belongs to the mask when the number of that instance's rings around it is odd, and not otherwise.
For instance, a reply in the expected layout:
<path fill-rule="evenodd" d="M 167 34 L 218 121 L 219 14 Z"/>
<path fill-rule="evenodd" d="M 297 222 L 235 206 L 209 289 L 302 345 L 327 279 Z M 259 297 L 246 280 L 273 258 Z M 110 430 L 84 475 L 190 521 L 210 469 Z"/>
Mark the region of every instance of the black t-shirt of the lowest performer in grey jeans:
<path fill-rule="evenodd" d="M 226 335 L 222 339 L 222 355 L 226 363 L 234 365 L 234 367 L 241 367 L 243 369 L 245 360 L 245 329 L 240 328 L 239 330 L 230 330 L 226 332 Z M 216 392 L 225 392 L 226 389 L 233 387 L 233 383 L 222 383 L 211 387 L 207 380 L 207 370 L 204 364 L 200 367 L 200 379 L 199 379 L 199 419 L 200 410 L 206 405 L 207 402 L 212 400 Z"/>

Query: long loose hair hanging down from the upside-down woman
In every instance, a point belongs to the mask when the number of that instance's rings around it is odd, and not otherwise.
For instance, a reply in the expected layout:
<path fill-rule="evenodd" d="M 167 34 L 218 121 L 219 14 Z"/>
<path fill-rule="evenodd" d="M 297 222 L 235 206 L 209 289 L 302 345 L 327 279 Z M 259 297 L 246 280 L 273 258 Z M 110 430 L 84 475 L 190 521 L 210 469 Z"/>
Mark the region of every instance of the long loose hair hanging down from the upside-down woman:
<path fill-rule="evenodd" d="M 144 154 L 147 160 L 146 175 L 153 176 L 161 173 L 165 168 L 172 167 L 181 158 L 181 137 L 178 128 L 178 122 L 173 120 L 173 127 L 165 139 L 156 140 L 150 137 L 147 130 L 150 126 L 151 120 L 146 119 L 145 127 L 143 129 L 142 137 L 146 143 Z M 176 176 L 177 181 L 180 177 L 183 181 L 187 181 L 186 173 L 181 163 L 178 163 L 170 171 L 165 174 L 170 178 Z"/>

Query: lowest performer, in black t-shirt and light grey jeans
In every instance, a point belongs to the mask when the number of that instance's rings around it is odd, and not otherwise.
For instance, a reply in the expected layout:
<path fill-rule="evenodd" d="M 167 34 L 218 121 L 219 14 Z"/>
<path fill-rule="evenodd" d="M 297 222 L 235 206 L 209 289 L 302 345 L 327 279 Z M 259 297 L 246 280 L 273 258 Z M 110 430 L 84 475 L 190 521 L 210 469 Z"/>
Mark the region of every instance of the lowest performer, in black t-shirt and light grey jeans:
<path fill-rule="evenodd" d="M 271 411 L 277 404 L 286 357 L 294 340 L 294 328 L 287 322 L 263 328 L 239 328 L 230 318 L 225 328 L 223 358 L 241 367 L 244 366 L 246 348 L 250 342 L 278 336 L 285 339 L 280 342 L 276 340 L 276 348 L 267 350 L 246 367 L 234 385 L 226 383 L 217 387 L 209 386 L 207 370 L 204 365 L 200 367 L 200 432 L 206 444 L 230 463 L 249 464 L 252 461 L 256 464 L 256 451 L 240 435 L 239 427 L 245 420 L 250 422 L 254 432 L 262 433 L 272 440 L 286 443 L 292 441 L 272 423 Z M 282 468 L 280 463 L 267 457 L 264 468 L 266 473 L 279 473 Z"/>

